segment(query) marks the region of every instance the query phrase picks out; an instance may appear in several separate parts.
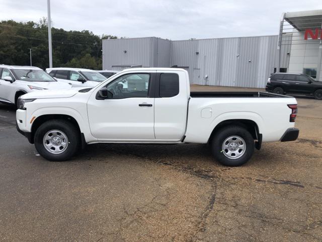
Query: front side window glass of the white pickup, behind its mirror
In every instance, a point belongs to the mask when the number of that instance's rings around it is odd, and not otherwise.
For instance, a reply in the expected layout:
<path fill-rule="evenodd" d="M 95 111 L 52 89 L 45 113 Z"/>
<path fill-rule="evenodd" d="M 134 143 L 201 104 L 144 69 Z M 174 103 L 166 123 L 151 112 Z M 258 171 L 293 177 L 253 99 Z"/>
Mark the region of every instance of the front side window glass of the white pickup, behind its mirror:
<path fill-rule="evenodd" d="M 150 74 L 127 74 L 108 84 L 110 98 L 148 97 Z"/>

